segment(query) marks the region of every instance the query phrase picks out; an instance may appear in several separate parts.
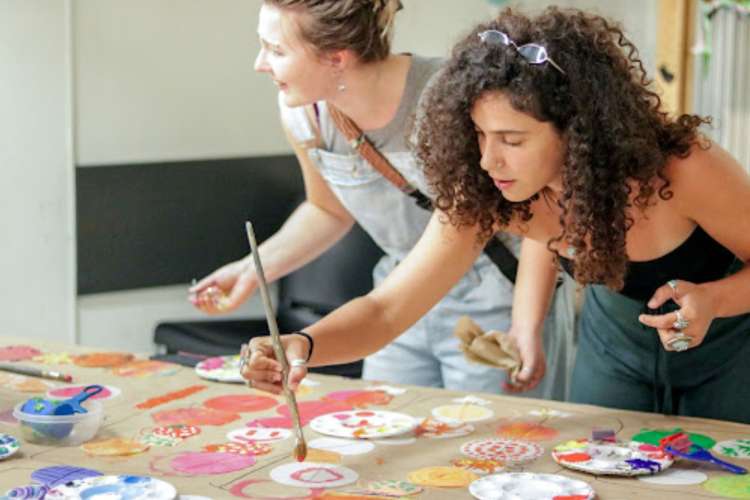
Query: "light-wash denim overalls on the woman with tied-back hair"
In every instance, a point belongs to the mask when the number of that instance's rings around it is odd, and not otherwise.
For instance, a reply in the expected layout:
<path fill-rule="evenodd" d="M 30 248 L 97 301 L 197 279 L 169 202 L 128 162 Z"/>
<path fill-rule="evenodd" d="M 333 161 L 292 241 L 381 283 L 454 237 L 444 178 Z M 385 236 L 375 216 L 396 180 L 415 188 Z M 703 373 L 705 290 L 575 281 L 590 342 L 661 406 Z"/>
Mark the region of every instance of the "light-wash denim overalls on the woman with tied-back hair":
<path fill-rule="evenodd" d="M 300 142 L 313 131 L 303 108 L 287 108 L 280 101 L 282 119 Z M 319 103 L 321 117 L 325 105 Z M 383 152 L 394 168 L 413 186 L 429 193 L 414 156 Z M 403 260 L 419 240 L 431 212 L 386 180 L 358 154 L 335 154 L 321 148 L 308 156 L 331 190 L 386 255 L 374 269 L 375 286 Z M 517 247 L 518 241 L 513 244 Z M 563 287 L 561 287 L 563 288 Z M 363 378 L 390 383 L 445 387 L 454 390 L 500 392 L 505 372 L 466 361 L 453 329 L 463 315 L 483 329 L 507 331 L 510 326 L 513 286 L 482 254 L 472 269 L 435 307 L 389 345 L 365 359 Z M 530 397 L 563 399 L 572 356 L 573 309 L 571 294 L 557 294 L 561 317 L 548 318 L 545 334 L 547 375 Z M 554 316 L 551 314 L 550 316 Z M 561 323 L 562 321 L 562 323 Z M 555 324 L 556 323 L 556 324 Z M 565 333 L 556 330 L 563 329 Z M 357 335 L 357 332 L 351 332 Z"/>

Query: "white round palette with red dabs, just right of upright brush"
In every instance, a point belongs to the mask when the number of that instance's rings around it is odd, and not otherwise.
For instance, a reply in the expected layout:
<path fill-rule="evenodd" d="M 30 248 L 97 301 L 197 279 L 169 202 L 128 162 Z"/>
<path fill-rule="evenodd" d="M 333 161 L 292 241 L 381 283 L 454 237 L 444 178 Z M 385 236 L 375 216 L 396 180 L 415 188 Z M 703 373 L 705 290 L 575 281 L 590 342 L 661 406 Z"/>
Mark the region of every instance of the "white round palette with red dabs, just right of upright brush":
<path fill-rule="evenodd" d="M 417 424 L 417 419 L 403 413 L 352 410 L 316 417 L 310 421 L 310 428 L 328 436 L 366 439 L 406 434 Z"/>

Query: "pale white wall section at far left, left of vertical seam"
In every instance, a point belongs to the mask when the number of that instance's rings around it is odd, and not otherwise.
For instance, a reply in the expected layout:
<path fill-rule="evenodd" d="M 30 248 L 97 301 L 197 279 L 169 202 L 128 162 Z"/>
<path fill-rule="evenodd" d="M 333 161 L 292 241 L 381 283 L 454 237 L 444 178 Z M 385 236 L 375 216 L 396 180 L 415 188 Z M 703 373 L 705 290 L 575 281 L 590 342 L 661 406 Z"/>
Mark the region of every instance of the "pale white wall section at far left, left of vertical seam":
<path fill-rule="evenodd" d="M 0 335 L 74 340 L 68 0 L 0 1 Z"/>

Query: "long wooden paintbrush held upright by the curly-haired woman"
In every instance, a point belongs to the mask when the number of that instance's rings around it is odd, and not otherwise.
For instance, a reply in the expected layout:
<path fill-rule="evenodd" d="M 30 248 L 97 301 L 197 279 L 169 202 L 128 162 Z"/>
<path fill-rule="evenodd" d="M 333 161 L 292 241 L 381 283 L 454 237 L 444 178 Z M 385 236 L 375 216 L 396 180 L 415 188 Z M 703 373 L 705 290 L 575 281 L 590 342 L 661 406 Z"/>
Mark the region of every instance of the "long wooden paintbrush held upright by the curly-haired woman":
<path fill-rule="evenodd" d="M 245 232 L 247 232 L 247 240 L 250 243 L 250 249 L 253 252 L 255 275 L 258 277 L 258 288 L 260 288 L 260 296 L 263 299 L 263 309 L 266 311 L 266 322 L 268 323 L 268 329 L 271 332 L 273 352 L 276 355 L 276 359 L 281 364 L 281 386 L 284 389 L 284 397 L 286 398 L 287 406 L 289 406 L 289 413 L 292 415 L 292 422 L 294 423 L 294 430 L 297 435 L 297 442 L 294 446 L 294 458 L 298 462 L 302 462 L 307 456 L 307 443 L 305 443 L 305 435 L 302 433 L 302 423 L 299 418 L 297 399 L 294 396 L 294 391 L 289 388 L 289 362 L 286 359 L 284 346 L 281 343 L 279 326 L 276 324 L 276 313 L 273 310 L 273 304 L 271 304 L 271 295 L 268 293 L 266 276 L 263 274 L 263 266 L 260 263 L 260 254 L 258 253 L 258 243 L 255 241 L 255 232 L 253 231 L 253 225 L 249 221 L 245 222 Z"/>

